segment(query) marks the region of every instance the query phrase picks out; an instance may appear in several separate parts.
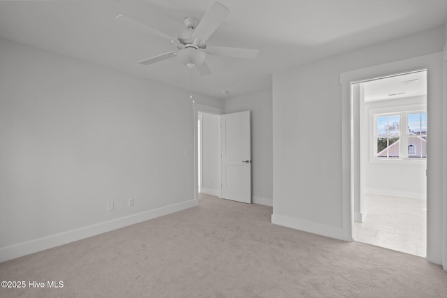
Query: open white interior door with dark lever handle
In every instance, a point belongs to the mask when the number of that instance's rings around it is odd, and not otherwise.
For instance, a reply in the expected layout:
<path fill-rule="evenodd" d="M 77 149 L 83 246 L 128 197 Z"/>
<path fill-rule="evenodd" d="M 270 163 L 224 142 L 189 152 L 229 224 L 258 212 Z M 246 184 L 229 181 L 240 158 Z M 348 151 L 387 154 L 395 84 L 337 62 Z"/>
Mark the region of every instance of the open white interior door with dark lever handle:
<path fill-rule="evenodd" d="M 221 115 L 222 198 L 251 203 L 250 111 Z"/>

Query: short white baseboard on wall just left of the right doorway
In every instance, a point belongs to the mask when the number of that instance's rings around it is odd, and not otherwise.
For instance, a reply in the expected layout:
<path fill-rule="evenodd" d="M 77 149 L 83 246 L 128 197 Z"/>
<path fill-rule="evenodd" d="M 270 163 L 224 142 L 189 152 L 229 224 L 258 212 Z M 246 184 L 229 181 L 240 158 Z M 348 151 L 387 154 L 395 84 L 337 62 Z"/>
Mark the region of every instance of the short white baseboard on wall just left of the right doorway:
<path fill-rule="evenodd" d="M 272 223 L 282 225 L 287 228 L 301 230 L 313 234 L 319 234 L 325 237 L 335 238 L 343 241 L 353 241 L 352 235 L 342 228 L 332 227 L 330 225 L 322 225 L 321 223 L 312 223 L 310 221 L 302 221 L 298 218 L 291 218 L 272 214 Z"/>

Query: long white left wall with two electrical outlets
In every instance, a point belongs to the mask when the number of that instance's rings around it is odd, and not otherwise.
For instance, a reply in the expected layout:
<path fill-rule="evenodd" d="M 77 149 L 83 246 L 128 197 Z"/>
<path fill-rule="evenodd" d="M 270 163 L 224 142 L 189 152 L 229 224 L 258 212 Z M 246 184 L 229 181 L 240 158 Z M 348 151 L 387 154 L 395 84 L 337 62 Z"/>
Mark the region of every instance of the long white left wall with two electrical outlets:
<path fill-rule="evenodd" d="M 0 262 L 197 204 L 189 91 L 4 39 L 0 65 Z"/>

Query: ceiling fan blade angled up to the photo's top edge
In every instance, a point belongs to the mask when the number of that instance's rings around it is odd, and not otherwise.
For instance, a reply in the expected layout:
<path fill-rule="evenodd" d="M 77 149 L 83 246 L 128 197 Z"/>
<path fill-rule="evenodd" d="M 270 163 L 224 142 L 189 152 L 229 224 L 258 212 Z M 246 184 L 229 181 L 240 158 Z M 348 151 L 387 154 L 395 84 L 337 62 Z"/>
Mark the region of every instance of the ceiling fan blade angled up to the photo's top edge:
<path fill-rule="evenodd" d="M 228 7 L 219 2 L 214 2 L 208 8 L 197 28 L 192 33 L 192 38 L 199 38 L 205 43 L 211 34 L 222 24 L 223 20 L 230 14 Z"/>

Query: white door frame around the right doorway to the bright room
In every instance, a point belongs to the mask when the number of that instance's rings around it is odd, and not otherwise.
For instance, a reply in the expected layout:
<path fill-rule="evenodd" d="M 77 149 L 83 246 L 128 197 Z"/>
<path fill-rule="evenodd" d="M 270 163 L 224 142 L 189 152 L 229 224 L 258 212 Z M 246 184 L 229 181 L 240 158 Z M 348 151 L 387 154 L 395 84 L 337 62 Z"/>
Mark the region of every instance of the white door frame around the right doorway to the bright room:
<path fill-rule="evenodd" d="M 395 61 L 379 66 L 352 70 L 340 74 L 342 84 L 342 193 L 344 237 L 353 241 L 353 189 L 354 161 L 358 152 L 353 135 L 353 98 L 351 83 L 385 77 L 390 73 L 407 73 L 415 69 L 427 69 L 427 113 L 430 113 L 428 129 L 431 131 L 430 147 L 427 149 L 427 260 L 443 263 L 443 131 L 436 124 L 443 123 L 443 53 L 427 54 L 420 57 Z M 434 125 L 432 125 L 434 124 Z M 445 172 L 445 171 L 444 171 Z M 445 229 L 445 228 L 444 228 Z M 447 265 L 444 263 L 444 265 Z"/>

